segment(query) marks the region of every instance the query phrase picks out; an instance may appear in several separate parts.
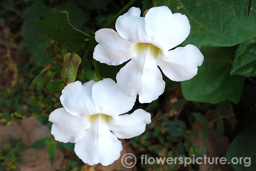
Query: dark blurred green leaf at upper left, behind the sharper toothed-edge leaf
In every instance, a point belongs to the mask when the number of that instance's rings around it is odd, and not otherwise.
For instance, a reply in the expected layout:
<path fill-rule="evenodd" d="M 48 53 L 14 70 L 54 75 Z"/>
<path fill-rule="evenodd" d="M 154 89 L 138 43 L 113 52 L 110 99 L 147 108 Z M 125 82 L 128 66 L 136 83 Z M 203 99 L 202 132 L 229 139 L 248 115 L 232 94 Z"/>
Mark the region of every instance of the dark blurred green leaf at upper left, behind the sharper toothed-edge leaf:
<path fill-rule="evenodd" d="M 49 38 L 36 25 L 41 18 L 45 18 L 50 14 L 50 9 L 43 2 L 40 0 L 35 1 L 32 6 L 26 9 L 21 27 L 21 35 L 26 47 L 38 66 L 44 66 L 52 62 L 45 50 L 45 48 L 51 46 Z"/>

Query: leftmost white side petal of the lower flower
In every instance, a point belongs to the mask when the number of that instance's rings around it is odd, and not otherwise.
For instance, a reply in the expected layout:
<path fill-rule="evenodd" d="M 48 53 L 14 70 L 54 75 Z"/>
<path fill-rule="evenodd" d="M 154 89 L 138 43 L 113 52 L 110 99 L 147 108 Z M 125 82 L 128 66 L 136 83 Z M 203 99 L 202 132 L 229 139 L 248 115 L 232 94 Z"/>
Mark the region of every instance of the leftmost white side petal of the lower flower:
<path fill-rule="evenodd" d="M 53 123 L 51 133 L 55 140 L 65 143 L 80 140 L 88 126 L 84 116 L 73 116 L 64 108 L 52 111 L 49 121 Z"/>

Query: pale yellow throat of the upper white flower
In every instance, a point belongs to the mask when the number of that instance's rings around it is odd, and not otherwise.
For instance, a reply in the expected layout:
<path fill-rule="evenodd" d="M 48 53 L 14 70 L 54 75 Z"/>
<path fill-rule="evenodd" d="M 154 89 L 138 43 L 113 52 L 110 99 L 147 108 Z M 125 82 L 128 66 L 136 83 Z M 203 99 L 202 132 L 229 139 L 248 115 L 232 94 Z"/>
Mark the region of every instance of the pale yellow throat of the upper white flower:
<path fill-rule="evenodd" d="M 145 52 L 149 52 L 153 57 L 158 58 L 162 53 L 160 48 L 152 45 L 151 43 L 137 43 L 134 46 L 135 53 L 144 54 Z"/>

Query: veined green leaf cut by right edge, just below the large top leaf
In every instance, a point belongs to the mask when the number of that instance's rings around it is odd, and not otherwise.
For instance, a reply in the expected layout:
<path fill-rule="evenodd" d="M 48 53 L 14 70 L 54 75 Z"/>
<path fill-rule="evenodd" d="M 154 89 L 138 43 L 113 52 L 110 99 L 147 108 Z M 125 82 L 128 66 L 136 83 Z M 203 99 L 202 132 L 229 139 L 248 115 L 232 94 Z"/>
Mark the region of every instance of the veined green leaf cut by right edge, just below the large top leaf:
<path fill-rule="evenodd" d="M 239 44 L 230 74 L 256 77 L 256 39 Z"/>

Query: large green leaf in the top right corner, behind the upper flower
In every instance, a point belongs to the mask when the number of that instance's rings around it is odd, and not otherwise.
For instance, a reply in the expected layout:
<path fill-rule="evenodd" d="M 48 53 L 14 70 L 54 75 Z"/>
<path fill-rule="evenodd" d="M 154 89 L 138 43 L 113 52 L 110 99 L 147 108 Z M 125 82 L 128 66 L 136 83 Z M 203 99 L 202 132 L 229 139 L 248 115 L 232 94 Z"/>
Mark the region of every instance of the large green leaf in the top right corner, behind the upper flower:
<path fill-rule="evenodd" d="M 249 0 L 157 0 L 157 6 L 168 6 L 173 13 L 186 14 L 191 31 L 183 46 L 234 46 L 256 37 L 256 1 Z M 143 10 L 151 0 L 143 1 Z M 248 17 L 249 15 L 249 17 Z"/>

